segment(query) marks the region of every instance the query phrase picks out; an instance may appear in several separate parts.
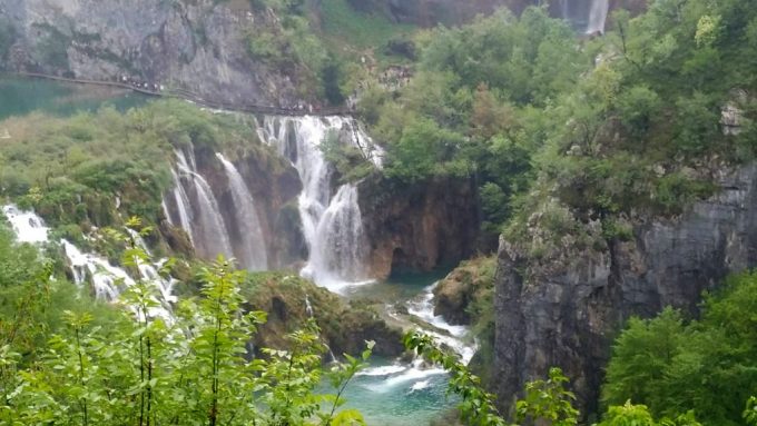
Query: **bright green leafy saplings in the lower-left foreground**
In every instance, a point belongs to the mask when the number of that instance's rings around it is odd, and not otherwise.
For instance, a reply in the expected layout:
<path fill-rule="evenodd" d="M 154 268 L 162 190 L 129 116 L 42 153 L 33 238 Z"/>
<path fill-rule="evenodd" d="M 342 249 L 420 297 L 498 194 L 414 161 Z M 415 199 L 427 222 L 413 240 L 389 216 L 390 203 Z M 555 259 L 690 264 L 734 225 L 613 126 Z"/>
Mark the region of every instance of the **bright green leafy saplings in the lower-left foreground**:
<path fill-rule="evenodd" d="M 199 297 L 169 305 L 158 298 L 167 270 L 155 270 L 140 240 L 150 229 L 136 219 L 128 224 L 141 232 L 108 231 L 122 246 L 121 264 L 139 277 L 112 283 L 121 290 L 115 305 L 121 315 L 102 323 L 87 310 L 67 310 L 66 327 L 30 361 L 18 350 L 24 346 L 1 345 L 0 424 L 364 424 L 360 413 L 340 407 L 372 344 L 328 373 L 336 395 L 316 394 L 324 345 L 315 321 L 291 334 L 286 348 L 255 357 L 249 343 L 265 314 L 244 307 L 245 273 L 218 258 L 200 273 Z"/>

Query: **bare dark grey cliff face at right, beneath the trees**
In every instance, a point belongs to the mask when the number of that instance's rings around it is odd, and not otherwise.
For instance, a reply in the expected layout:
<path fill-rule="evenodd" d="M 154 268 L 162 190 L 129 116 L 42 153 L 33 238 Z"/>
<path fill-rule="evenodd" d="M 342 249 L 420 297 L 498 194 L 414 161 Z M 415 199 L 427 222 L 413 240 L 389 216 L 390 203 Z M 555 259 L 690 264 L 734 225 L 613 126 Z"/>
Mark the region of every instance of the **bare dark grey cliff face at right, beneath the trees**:
<path fill-rule="evenodd" d="M 669 305 L 694 313 L 702 290 L 757 265 L 757 167 L 719 185 L 719 195 L 681 217 L 640 220 L 631 240 L 567 254 L 562 264 L 529 261 L 501 241 L 493 387 L 504 408 L 528 380 L 559 366 L 582 408 L 596 413 L 610 344 L 626 319 Z"/>

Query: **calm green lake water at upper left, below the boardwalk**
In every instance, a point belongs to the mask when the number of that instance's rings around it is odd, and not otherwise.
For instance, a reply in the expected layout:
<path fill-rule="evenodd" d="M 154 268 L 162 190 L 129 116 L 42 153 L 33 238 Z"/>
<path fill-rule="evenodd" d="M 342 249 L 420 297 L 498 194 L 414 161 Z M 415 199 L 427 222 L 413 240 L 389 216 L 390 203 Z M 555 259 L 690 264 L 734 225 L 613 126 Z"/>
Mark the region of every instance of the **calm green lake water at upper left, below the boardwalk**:
<path fill-rule="evenodd" d="M 0 120 L 35 111 L 70 116 L 80 111 L 95 111 L 105 105 L 125 111 L 149 99 L 150 97 L 146 95 L 126 89 L 36 78 L 0 77 Z"/>

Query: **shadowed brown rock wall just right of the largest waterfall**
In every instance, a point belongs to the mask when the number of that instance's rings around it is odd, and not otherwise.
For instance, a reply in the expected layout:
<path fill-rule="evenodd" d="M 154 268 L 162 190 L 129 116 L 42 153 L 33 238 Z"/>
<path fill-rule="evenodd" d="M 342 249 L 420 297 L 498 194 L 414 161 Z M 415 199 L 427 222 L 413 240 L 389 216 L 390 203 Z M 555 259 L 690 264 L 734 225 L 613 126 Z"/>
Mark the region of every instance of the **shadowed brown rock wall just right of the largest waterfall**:
<path fill-rule="evenodd" d="M 373 178 L 361 184 L 358 194 L 371 277 L 455 265 L 476 247 L 480 215 L 473 180 L 444 178 L 396 188 Z"/>

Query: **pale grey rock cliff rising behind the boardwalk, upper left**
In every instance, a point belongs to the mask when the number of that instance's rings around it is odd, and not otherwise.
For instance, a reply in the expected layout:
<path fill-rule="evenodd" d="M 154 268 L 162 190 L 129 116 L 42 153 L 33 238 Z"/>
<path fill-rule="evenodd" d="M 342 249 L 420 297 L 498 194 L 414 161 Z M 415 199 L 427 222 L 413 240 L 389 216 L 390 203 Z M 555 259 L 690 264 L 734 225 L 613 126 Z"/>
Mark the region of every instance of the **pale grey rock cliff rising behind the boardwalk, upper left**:
<path fill-rule="evenodd" d="M 244 34 L 275 17 L 248 1 L 7 0 L 0 68 L 184 89 L 227 103 L 292 105 L 289 78 L 250 59 Z"/>

